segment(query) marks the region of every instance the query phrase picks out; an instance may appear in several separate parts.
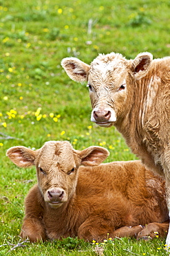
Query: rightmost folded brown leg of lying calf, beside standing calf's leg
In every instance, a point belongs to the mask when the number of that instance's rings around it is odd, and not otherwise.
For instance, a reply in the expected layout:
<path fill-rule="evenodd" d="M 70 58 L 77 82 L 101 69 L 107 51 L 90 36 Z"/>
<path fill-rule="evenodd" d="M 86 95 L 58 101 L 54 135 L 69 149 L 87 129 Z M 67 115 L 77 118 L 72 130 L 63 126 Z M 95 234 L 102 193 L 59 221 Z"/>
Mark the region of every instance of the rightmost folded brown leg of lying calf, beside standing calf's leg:
<path fill-rule="evenodd" d="M 143 228 L 137 236 L 137 239 L 153 239 L 156 236 L 166 237 L 167 231 L 169 229 L 169 221 L 164 221 L 163 223 L 149 223 Z"/>

